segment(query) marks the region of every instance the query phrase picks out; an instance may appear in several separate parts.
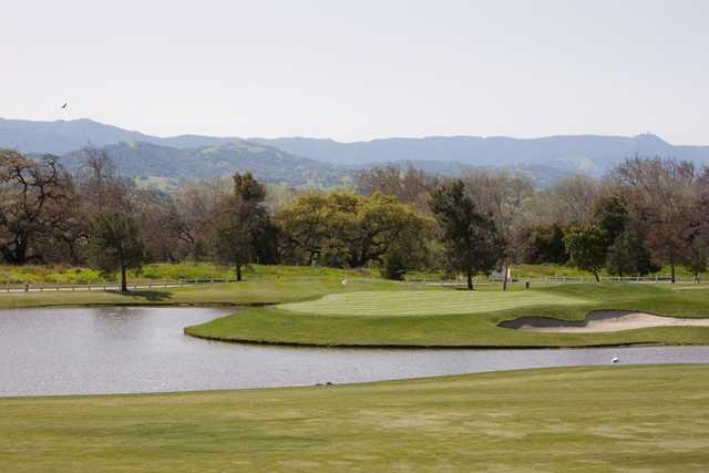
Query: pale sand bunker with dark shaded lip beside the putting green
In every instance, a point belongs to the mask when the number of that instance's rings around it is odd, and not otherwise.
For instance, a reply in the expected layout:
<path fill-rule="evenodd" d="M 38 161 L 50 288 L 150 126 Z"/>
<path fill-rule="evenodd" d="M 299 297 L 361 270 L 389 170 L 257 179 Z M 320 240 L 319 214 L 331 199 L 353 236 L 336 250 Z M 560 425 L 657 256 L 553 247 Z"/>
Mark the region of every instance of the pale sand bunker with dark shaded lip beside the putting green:
<path fill-rule="evenodd" d="M 497 325 L 508 329 L 541 332 L 597 333 L 645 329 L 648 327 L 709 327 L 709 319 L 654 316 L 630 310 L 594 310 L 585 320 L 559 320 L 548 317 L 521 317 Z"/>

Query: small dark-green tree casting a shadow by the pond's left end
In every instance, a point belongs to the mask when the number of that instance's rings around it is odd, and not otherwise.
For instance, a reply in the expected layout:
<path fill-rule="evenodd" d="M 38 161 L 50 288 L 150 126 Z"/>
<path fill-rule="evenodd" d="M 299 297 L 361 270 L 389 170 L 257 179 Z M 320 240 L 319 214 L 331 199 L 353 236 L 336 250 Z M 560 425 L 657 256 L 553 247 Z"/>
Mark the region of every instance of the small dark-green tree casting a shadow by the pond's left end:
<path fill-rule="evenodd" d="M 140 268 L 145 253 L 140 230 L 125 213 L 110 212 L 97 215 L 90 226 L 91 259 L 104 271 L 121 271 L 121 291 L 126 292 L 127 269 Z"/>

